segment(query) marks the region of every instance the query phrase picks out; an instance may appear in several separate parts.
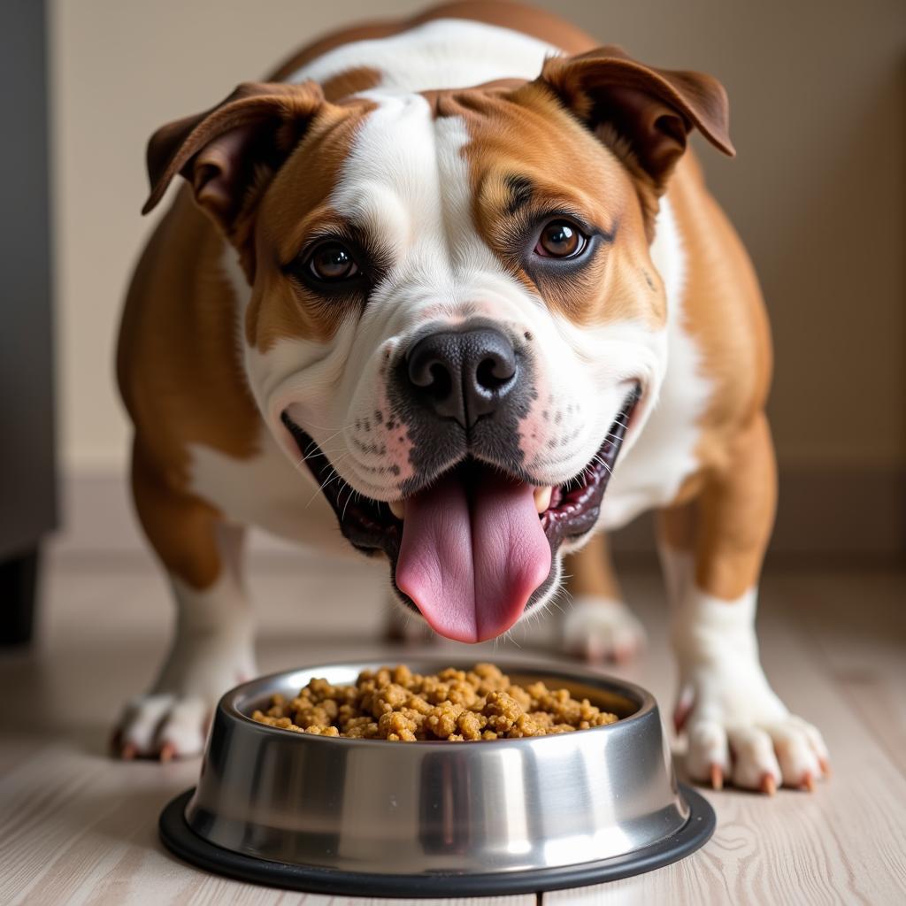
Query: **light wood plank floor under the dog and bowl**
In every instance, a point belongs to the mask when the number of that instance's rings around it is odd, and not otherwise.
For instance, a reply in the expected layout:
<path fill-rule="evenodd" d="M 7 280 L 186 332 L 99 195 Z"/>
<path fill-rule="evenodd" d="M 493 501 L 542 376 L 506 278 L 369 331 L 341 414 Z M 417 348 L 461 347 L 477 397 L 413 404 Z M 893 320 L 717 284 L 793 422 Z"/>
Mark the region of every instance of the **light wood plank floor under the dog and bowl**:
<path fill-rule="evenodd" d="M 257 564 L 262 670 L 375 653 L 383 612 L 369 567 L 342 566 L 347 601 L 324 622 L 317 602 L 336 599 L 337 574 L 335 564 Z M 669 711 L 660 580 L 625 584 L 651 646 L 613 672 L 647 686 Z M 0 903 L 328 903 L 180 863 L 158 842 L 157 816 L 194 783 L 198 761 L 106 756 L 111 720 L 148 681 L 169 630 L 169 602 L 150 565 L 56 563 L 45 592 L 38 646 L 0 654 Z M 549 645 L 553 622 L 525 640 L 517 633 L 522 653 Z M 784 790 L 774 799 L 708 792 L 718 831 L 699 853 L 622 882 L 547 894 L 545 906 L 906 902 L 906 576 L 769 575 L 759 626 L 777 691 L 824 730 L 832 780 L 812 795 Z M 527 906 L 535 897 L 499 902 Z"/>

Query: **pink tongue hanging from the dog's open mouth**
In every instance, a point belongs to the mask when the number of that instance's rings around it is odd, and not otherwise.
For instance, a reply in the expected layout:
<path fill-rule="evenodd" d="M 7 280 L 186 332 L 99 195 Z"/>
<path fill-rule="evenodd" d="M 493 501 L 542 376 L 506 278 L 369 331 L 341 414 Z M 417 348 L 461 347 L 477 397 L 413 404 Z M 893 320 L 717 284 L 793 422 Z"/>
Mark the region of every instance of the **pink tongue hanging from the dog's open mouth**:
<path fill-rule="evenodd" d="M 406 501 L 396 583 L 431 629 L 457 641 L 505 632 L 551 570 L 533 488 L 481 468 Z"/>

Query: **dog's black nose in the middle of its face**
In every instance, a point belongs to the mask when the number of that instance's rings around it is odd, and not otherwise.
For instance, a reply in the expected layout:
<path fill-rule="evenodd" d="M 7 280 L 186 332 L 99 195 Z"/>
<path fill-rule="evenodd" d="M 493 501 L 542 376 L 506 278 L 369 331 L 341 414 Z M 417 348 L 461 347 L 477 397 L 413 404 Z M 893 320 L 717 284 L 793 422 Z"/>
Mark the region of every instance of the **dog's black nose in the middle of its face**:
<path fill-rule="evenodd" d="M 431 333 L 407 357 L 412 389 L 442 418 L 470 429 L 490 415 L 516 386 L 513 344 L 491 327 Z"/>

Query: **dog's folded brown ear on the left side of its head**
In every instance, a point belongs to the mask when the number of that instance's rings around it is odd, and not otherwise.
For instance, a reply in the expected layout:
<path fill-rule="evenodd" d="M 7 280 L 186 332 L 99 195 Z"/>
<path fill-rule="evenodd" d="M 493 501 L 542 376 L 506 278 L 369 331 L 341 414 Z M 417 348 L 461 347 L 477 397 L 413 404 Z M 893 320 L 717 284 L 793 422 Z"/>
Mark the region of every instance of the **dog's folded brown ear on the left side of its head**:
<path fill-rule="evenodd" d="M 275 171 L 324 106 L 320 86 L 245 82 L 209 111 L 161 126 L 148 142 L 152 210 L 181 173 L 227 236 L 261 169 Z"/>

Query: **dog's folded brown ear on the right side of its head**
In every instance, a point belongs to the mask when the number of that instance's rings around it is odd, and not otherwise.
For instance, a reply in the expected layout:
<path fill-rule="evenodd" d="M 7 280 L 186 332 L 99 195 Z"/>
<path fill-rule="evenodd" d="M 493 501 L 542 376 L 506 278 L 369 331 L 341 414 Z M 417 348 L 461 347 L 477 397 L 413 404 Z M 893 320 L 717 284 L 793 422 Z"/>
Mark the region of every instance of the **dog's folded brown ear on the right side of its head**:
<path fill-rule="evenodd" d="M 606 46 L 549 58 L 537 82 L 590 129 L 611 123 L 659 192 L 693 128 L 725 154 L 736 153 L 728 131 L 727 92 L 703 72 L 654 69 L 620 47 Z"/>

